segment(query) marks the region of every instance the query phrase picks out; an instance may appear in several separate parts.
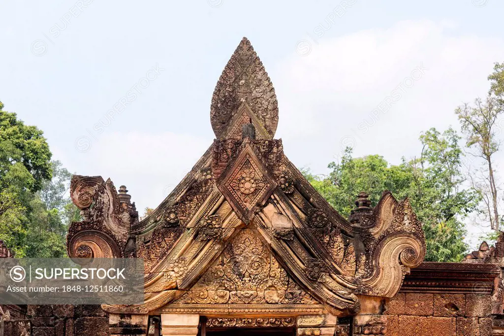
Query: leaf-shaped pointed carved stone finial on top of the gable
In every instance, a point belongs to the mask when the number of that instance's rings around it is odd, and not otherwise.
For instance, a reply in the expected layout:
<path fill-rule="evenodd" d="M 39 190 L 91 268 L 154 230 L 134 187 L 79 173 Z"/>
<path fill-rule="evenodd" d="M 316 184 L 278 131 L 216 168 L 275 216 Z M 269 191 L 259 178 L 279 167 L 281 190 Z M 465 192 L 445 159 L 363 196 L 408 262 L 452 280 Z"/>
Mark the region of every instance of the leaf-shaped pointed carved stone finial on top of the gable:
<path fill-rule="evenodd" d="M 275 89 L 250 41 L 243 37 L 215 86 L 210 121 L 217 138 L 240 118 L 240 106 L 250 108 L 253 119 L 273 139 L 278 124 Z M 238 115 L 238 116 L 236 116 Z M 248 119 L 248 118 L 247 118 Z M 258 125 L 256 125 L 256 129 Z"/>

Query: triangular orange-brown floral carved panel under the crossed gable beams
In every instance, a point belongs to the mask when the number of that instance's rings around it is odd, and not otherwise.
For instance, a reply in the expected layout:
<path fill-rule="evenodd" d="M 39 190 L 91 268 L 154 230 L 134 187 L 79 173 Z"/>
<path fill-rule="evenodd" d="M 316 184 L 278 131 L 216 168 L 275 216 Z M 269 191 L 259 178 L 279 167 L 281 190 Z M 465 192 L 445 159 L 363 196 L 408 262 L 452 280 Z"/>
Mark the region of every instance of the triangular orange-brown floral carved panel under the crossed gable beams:
<path fill-rule="evenodd" d="M 322 309 L 279 265 L 253 229 L 239 230 L 199 281 L 161 311 L 211 310 L 208 305 L 242 313 Z"/>

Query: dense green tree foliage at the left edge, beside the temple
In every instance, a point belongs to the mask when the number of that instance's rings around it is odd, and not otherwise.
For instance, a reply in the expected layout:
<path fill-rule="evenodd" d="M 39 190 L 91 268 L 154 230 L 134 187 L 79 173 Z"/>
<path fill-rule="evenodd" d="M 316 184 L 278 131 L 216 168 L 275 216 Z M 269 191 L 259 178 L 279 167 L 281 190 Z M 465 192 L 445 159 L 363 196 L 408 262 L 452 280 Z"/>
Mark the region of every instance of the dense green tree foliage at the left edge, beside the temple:
<path fill-rule="evenodd" d="M 67 190 L 71 174 L 51 161 L 42 131 L 0 102 L 0 239 L 17 257 L 66 255 L 68 223 L 78 211 Z"/>

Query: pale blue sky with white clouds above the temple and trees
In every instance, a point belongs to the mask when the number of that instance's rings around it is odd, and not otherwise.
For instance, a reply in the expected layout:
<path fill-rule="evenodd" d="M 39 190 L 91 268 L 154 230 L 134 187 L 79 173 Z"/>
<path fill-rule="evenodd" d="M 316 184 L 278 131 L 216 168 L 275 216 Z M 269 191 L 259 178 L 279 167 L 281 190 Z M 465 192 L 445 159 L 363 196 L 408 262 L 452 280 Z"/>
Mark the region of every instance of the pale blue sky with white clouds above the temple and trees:
<path fill-rule="evenodd" d="M 212 93 L 243 36 L 275 86 L 275 138 L 316 174 L 347 145 L 418 155 L 421 132 L 459 129 L 454 109 L 504 61 L 497 0 L 19 0 L 0 13 L 5 109 L 71 172 L 126 185 L 141 214 L 212 143 Z"/>

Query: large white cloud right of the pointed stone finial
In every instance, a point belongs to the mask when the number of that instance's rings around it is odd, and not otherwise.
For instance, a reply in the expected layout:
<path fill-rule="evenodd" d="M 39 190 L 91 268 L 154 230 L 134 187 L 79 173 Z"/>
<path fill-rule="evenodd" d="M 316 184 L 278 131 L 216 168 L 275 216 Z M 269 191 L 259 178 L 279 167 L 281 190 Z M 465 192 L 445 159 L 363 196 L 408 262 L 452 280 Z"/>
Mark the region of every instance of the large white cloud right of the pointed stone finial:
<path fill-rule="evenodd" d="M 305 57 L 293 52 L 282 60 L 272 72 L 280 108 L 276 137 L 290 158 L 323 173 L 343 143 L 354 144 L 357 156 L 379 153 L 397 163 L 418 153 L 420 132 L 458 127 L 455 107 L 486 93 L 504 42 L 457 29 L 454 22 L 424 20 L 326 34 Z M 422 65 L 428 70 L 408 87 L 407 78 Z M 377 109 L 401 83 L 401 98 L 385 113 Z"/>

